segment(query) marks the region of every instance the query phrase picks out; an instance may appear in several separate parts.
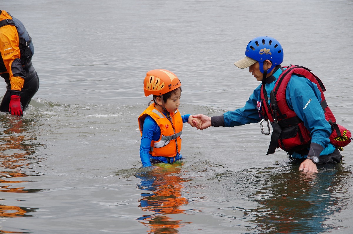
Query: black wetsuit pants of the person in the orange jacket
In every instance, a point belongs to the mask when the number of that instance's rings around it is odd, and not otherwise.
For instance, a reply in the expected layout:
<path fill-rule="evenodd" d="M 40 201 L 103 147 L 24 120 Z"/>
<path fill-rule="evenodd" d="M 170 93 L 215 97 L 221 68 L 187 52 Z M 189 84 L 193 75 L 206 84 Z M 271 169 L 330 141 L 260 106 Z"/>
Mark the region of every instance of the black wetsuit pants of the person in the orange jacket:
<path fill-rule="evenodd" d="M 8 112 L 8 106 L 10 105 L 10 100 L 11 100 L 10 74 L 4 73 L 4 74 L 1 74 L 1 77 L 5 79 L 5 82 L 7 84 L 6 86 L 7 90 L 4 97 L 2 98 L 0 111 Z M 21 100 L 23 110 L 25 110 L 28 107 L 29 102 L 31 101 L 34 94 L 38 91 L 38 88 L 39 88 L 39 78 L 38 78 L 37 72 L 34 70 L 32 63 L 29 62 L 28 75 L 24 80 L 23 88 L 20 92 L 20 97 L 21 97 L 20 100 Z"/>

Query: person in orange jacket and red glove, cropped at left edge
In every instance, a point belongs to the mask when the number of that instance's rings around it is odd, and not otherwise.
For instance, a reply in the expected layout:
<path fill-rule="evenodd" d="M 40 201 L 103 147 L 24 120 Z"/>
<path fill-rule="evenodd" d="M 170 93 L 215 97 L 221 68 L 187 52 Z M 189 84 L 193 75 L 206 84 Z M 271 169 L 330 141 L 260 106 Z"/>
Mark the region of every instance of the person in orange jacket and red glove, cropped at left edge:
<path fill-rule="evenodd" d="M 24 25 L 6 11 L 0 10 L 0 75 L 7 90 L 0 111 L 22 116 L 39 87 L 31 58 L 34 47 Z"/>

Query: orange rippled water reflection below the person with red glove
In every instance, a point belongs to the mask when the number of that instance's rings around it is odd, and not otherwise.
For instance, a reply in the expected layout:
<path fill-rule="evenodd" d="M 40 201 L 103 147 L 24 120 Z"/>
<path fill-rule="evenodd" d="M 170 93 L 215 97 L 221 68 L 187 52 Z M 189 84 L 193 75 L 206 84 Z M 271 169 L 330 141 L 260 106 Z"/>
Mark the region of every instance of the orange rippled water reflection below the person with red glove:
<path fill-rule="evenodd" d="M 29 182 L 22 177 L 37 175 L 31 166 L 38 163 L 36 152 L 42 146 L 36 138 L 26 136 L 32 124 L 27 119 L 1 115 L 0 122 L 0 192 L 33 193 L 47 189 L 26 189 L 21 183 Z M 16 180 L 14 180 L 16 178 Z M 5 200 L 5 199 L 1 199 Z M 0 201 L 0 217 L 26 217 L 37 208 L 10 206 Z M 4 231 L 3 231 L 4 232 Z"/>

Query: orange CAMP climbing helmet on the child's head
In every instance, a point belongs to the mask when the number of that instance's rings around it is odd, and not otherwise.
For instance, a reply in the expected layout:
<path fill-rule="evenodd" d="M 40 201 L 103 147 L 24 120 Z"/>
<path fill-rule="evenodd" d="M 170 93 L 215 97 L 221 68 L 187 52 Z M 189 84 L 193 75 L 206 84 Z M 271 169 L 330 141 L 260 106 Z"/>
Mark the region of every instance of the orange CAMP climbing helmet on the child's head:
<path fill-rule="evenodd" d="M 179 78 L 166 69 L 154 69 L 147 72 L 143 81 L 145 96 L 163 95 L 181 86 Z"/>

